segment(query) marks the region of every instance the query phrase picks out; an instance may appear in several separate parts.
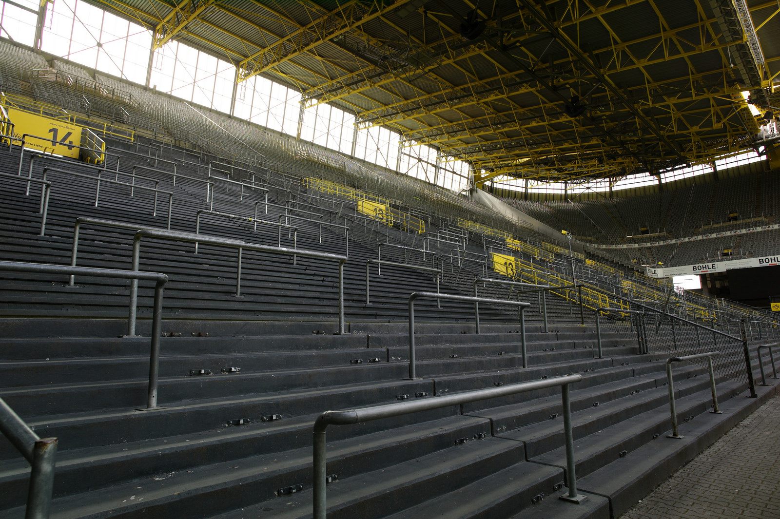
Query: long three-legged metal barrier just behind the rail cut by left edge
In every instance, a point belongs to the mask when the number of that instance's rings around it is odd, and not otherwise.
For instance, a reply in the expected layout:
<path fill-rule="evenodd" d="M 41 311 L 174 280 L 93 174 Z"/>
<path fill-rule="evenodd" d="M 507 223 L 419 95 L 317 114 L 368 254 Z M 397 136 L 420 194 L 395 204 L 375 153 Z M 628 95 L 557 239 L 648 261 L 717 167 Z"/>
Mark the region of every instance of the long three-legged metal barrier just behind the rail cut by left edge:
<path fill-rule="evenodd" d="M 137 231 L 133 237 L 133 270 L 138 270 L 140 263 L 140 245 L 143 238 L 154 238 L 159 240 L 168 240 L 172 242 L 200 242 L 206 245 L 218 245 L 222 247 L 228 247 L 231 249 L 238 249 L 238 263 L 236 269 L 236 295 L 241 293 L 241 259 L 243 250 L 251 250 L 256 252 L 268 252 L 270 254 L 282 254 L 285 256 L 303 256 L 307 258 L 318 258 L 320 260 L 336 260 L 339 262 L 339 331 L 337 334 L 346 334 L 344 327 L 344 263 L 347 261 L 346 256 L 339 256 L 337 254 L 330 254 L 328 252 L 317 252 L 311 250 L 301 249 L 286 249 L 284 247 L 273 247 L 271 245 L 258 245 L 256 243 L 242 242 L 240 240 L 232 240 L 226 238 L 218 238 L 216 236 L 208 235 L 193 235 L 189 232 L 176 232 L 176 231 L 159 231 L 156 229 L 141 229 Z M 130 284 L 130 302 L 137 301 L 138 298 L 138 283 L 133 281 Z M 133 323 L 135 323 L 136 309 L 133 305 L 130 305 L 130 317 Z"/>

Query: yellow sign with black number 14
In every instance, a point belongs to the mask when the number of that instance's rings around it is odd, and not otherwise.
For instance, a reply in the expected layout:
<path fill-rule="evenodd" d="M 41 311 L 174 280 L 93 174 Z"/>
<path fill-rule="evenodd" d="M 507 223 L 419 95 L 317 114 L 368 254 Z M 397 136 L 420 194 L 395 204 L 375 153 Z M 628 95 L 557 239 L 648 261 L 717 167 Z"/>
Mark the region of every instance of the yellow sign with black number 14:
<path fill-rule="evenodd" d="M 13 123 L 14 134 L 19 138 L 25 133 L 29 134 L 25 138 L 25 147 L 63 157 L 79 158 L 81 150 L 78 147 L 81 146 L 82 133 L 80 126 L 16 108 L 7 110 L 8 118 Z"/>

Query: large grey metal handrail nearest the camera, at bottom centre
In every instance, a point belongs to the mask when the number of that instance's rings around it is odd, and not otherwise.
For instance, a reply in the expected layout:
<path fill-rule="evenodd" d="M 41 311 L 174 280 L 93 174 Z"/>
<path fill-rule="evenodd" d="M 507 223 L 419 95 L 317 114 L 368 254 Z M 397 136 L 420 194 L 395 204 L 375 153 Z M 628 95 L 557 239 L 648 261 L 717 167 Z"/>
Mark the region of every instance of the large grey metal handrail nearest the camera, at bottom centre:
<path fill-rule="evenodd" d="M 556 376 L 547 380 L 534 380 L 502 387 L 489 387 L 482 390 L 466 391 L 460 394 L 449 394 L 441 397 L 421 398 L 412 402 L 397 402 L 394 404 L 375 405 L 371 408 L 358 408 L 349 411 L 325 411 L 314 422 L 314 519 L 326 519 L 327 503 L 327 464 L 328 442 L 326 432 L 328 425 L 352 425 L 370 422 L 381 418 L 408 415 L 420 411 L 445 408 L 449 405 L 467 404 L 487 400 L 488 398 L 505 397 L 529 391 L 544 390 L 549 387 L 561 387 L 563 407 L 563 432 L 566 437 L 566 494 L 562 500 L 582 503 L 587 496 L 577 493 L 576 463 L 574 459 L 574 437 L 572 433 L 572 411 L 569 402 L 569 384 L 582 380 L 582 375 Z"/>

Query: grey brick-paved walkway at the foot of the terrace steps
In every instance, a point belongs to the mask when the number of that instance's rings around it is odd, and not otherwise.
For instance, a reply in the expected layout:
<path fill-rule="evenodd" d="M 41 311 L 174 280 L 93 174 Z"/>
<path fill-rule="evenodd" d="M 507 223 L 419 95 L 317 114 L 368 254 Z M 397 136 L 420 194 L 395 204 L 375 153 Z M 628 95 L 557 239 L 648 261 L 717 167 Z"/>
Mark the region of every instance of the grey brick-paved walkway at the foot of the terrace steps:
<path fill-rule="evenodd" d="M 780 397 L 740 422 L 620 519 L 780 519 Z"/>

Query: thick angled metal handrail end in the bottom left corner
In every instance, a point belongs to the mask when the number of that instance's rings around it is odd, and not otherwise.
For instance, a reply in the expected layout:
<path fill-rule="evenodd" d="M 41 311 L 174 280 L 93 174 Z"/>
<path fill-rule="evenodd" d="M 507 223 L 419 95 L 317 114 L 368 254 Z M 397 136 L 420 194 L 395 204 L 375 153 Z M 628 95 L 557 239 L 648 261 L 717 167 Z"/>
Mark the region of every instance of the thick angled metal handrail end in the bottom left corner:
<path fill-rule="evenodd" d="M 58 439 L 41 439 L 2 398 L 0 398 L 0 431 L 19 450 L 32 468 L 25 519 L 48 519 L 51 513 L 51 493 L 54 489 Z"/>

